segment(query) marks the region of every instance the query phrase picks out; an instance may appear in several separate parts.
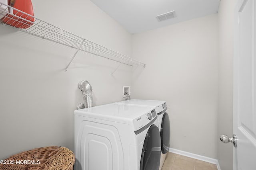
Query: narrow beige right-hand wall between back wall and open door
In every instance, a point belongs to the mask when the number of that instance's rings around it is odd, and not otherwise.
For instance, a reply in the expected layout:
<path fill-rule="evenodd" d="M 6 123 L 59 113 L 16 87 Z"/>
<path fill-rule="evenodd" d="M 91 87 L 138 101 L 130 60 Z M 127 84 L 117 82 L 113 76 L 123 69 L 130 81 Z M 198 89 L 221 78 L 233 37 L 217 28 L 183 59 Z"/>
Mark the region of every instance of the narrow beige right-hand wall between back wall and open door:
<path fill-rule="evenodd" d="M 218 12 L 218 136 L 233 135 L 233 27 L 236 0 L 221 0 Z M 222 170 L 232 170 L 232 145 L 218 140 Z"/>

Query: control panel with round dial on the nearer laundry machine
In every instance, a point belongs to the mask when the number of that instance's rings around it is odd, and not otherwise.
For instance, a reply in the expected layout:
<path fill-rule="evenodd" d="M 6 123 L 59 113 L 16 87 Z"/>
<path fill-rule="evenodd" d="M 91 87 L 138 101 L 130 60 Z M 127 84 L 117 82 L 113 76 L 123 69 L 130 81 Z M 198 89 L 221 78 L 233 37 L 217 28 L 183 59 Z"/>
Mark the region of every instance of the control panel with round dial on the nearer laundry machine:
<path fill-rule="evenodd" d="M 152 121 L 155 121 L 156 117 L 157 117 L 157 114 L 155 109 L 137 117 L 136 119 L 133 120 L 134 131 L 138 131 L 140 129 L 141 130 L 146 129 L 149 125 L 152 124 Z"/>

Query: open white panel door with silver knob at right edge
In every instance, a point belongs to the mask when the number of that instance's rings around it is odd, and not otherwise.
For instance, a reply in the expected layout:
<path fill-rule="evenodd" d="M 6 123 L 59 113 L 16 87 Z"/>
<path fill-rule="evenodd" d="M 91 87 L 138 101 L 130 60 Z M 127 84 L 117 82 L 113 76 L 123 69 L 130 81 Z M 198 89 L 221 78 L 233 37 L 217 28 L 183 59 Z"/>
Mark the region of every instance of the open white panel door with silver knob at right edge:
<path fill-rule="evenodd" d="M 256 0 L 238 0 L 234 29 L 234 170 L 256 170 Z"/>

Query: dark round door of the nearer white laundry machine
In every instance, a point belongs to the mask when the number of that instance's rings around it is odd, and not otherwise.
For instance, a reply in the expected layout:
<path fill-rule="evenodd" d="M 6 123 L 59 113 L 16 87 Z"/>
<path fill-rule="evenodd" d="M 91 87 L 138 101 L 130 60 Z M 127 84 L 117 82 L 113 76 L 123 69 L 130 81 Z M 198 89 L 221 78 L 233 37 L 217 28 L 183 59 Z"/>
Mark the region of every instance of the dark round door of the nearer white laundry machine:
<path fill-rule="evenodd" d="M 141 159 L 140 170 L 158 170 L 161 156 L 161 139 L 158 127 L 150 126 L 146 135 Z"/>

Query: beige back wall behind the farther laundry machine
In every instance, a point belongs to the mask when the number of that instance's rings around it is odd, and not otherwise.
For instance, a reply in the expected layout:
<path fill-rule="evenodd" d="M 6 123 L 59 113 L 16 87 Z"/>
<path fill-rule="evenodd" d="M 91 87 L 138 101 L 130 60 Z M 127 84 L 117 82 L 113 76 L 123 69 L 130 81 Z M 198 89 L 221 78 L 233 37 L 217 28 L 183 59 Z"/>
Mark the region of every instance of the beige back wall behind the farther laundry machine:
<path fill-rule="evenodd" d="M 217 158 L 218 16 L 132 36 L 132 98 L 166 100 L 170 147 Z"/>

